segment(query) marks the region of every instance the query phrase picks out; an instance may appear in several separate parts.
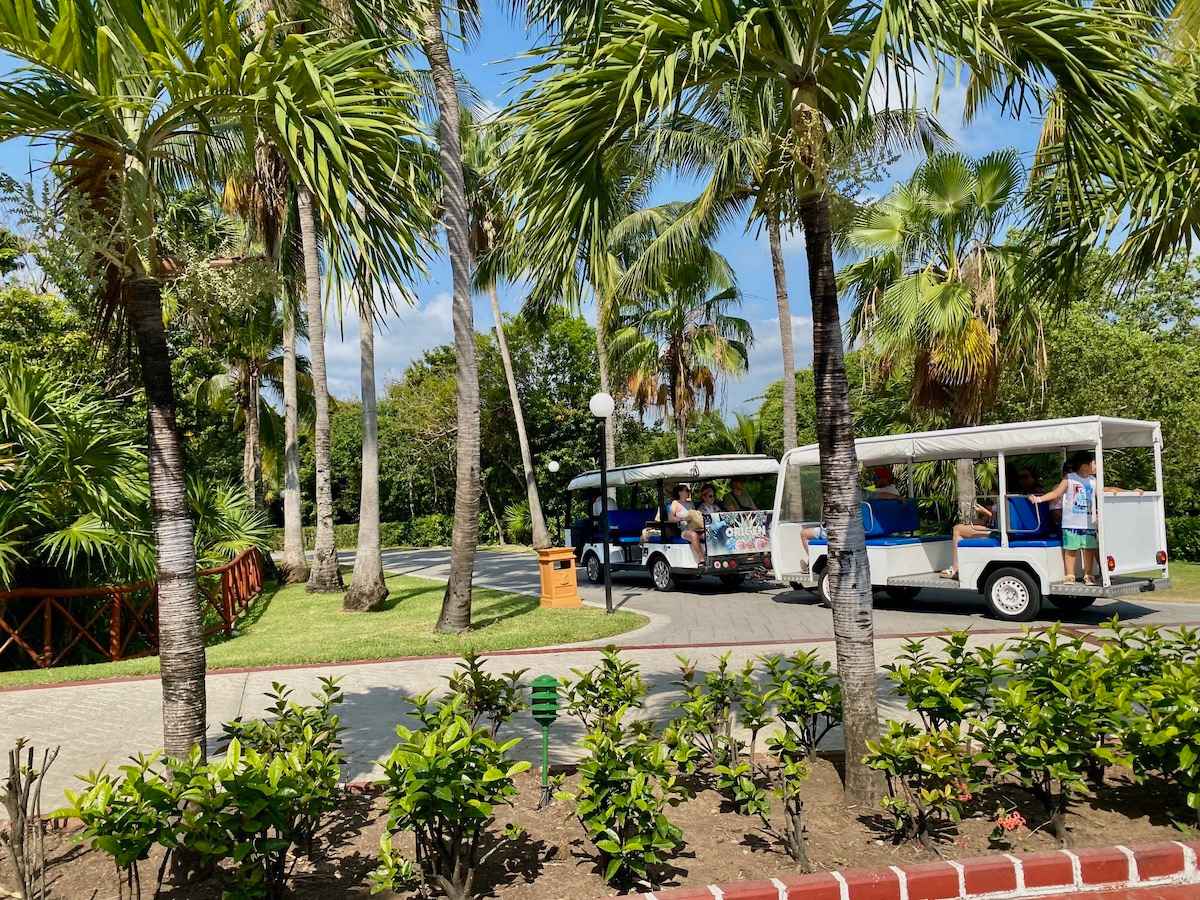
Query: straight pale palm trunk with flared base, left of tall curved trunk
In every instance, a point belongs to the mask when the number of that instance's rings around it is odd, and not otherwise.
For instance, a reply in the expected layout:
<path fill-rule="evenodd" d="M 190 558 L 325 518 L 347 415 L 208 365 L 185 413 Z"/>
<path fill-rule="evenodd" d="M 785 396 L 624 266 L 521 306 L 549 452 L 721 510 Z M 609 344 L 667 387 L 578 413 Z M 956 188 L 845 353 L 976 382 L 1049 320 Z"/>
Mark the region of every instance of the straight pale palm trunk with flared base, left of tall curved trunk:
<path fill-rule="evenodd" d="M 388 599 L 379 548 L 379 421 L 374 392 L 374 318 L 359 305 L 359 367 L 362 379 L 362 478 L 359 487 L 359 542 L 354 576 L 342 598 L 342 608 L 378 610 Z"/>

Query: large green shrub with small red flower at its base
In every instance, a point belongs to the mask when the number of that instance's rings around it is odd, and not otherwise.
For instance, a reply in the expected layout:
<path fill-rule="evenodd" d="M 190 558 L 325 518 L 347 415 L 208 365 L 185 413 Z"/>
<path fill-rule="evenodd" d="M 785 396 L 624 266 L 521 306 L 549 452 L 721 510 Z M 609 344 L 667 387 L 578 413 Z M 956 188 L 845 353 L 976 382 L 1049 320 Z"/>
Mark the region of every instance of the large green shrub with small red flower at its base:
<path fill-rule="evenodd" d="M 997 775 L 1012 775 L 1045 804 L 1054 835 L 1067 841 L 1072 796 L 1087 791 L 1087 774 L 1127 762 L 1115 738 L 1128 708 L 1130 686 L 1114 689 L 1080 638 L 1057 625 L 1026 632 L 1014 643 L 994 690 L 992 713 L 972 724 L 971 737 Z"/>

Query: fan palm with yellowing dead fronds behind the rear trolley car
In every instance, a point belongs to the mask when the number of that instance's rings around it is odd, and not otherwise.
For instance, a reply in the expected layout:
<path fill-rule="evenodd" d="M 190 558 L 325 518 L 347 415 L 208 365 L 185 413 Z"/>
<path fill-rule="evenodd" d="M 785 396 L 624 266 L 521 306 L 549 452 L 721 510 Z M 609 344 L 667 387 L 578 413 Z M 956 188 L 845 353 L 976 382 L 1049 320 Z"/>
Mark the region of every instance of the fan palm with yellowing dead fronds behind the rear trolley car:
<path fill-rule="evenodd" d="M 941 154 L 863 210 L 845 246 L 869 254 L 842 270 L 851 336 L 880 376 L 911 373 L 911 406 L 976 425 L 1006 366 L 1044 370 L 1042 310 L 1024 283 L 1024 253 L 1000 244 L 1020 211 L 1015 150 L 980 160 Z M 958 461 L 959 517 L 974 521 L 974 461 Z"/>

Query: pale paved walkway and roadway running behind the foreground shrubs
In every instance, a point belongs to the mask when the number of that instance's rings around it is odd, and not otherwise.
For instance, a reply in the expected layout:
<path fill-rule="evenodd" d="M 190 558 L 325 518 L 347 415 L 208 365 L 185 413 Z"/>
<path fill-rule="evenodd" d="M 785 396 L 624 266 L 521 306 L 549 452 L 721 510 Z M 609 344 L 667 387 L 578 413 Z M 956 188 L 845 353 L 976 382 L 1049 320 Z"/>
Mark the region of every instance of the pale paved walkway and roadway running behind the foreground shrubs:
<path fill-rule="evenodd" d="M 385 556 L 385 565 L 392 571 L 444 578 L 448 552 L 394 551 Z M 481 554 L 478 572 L 481 586 L 536 593 L 535 563 L 528 554 Z M 727 648 L 732 661 L 739 665 L 763 653 L 785 653 L 797 643 L 806 643 L 833 659 L 829 611 L 817 607 L 810 595 L 766 586 L 736 593 L 724 593 L 715 583 L 689 587 L 695 590 L 668 594 L 654 592 L 644 581 L 622 580 L 614 587 L 618 604 L 652 616 L 648 626 L 618 638 L 648 682 L 652 714 L 664 716 L 670 712 L 676 697 L 672 683 L 678 672 L 678 653 L 695 658 L 704 667 Z M 602 589 L 588 586 L 584 595 L 589 601 L 604 601 Z M 1105 604 L 1069 620 L 1092 624 L 1114 612 L 1139 622 L 1200 623 L 1200 607 L 1144 602 Z M 881 665 L 900 652 L 905 634 L 974 625 L 980 631 L 977 640 L 983 643 L 996 640 L 995 631 L 1003 630 L 996 628 L 998 623 L 983 618 L 982 606 L 936 595 L 928 601 L 922 598 L 907 610 L 881 608 L 876 616 L 880 635 L 876 655 Z M 685 644 L 707 647 L 689 649 Z M 572 668 L 594 665 L 596 655 L 594 647 L 494 654 L 490 666 L 496 671 L 527 668 L 528 677 L 542 673 L 564 677 Z M 450 659 L 431 659 L 211 674 L 208 678 L 210 740 L 220 736 L 222 721 L 262 714 L 266 706 L 263 695 L 272 682 L 284 682 L 302 698 L 317 689 L 319 676 L 335 673 L 341 676 L 346 694 L 341 712 L 348 727 L 347 778 L 367 778 L 374 770 L 374 761 L 391 749 L 394 726 L 408 708 L 406 701 L 442 686 L 454 666 Z M 883 715 L 901 715 L 902 708 L 887 694 L 886 678 L 881 676 L 880 683 Z M 136 752 L 156 749 L 161 740 L 160 704 L 160 683 L 154 678 L 0 691 L 0 748 L 11 746 L 18 736 L 38 745 L 62 745 L 47 779 L 47 803 L 53 804 L 62 788 L 74 782 L 76 774 L 104 763 L 115 766 Z M 515 734 L 524 737 L 535 733 L 527 716 L 521 716 L 514 728 Z M 556 725 L 553 734 L 554 760 L 568 761 L 580 737 L 578 726 L 564 720 Z M 830 734 L 830 742 L 836 744 L 839 736 Z M 532 758 L 536 744 L 526 740 L 522 751 Z"/>

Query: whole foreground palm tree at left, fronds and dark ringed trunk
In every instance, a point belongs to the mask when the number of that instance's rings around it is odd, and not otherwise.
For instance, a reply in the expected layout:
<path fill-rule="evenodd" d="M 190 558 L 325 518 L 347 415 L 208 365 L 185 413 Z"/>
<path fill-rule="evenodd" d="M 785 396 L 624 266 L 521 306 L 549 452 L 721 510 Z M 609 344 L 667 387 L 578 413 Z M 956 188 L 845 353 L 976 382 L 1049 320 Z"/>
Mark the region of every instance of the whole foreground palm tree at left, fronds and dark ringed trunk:
<path fill-rule="evenodd" d="M 163 745 L 176 756 L 205 746 L 205 658 L 162 312 L 169 266 L 155 240 L 163 188 L 211 184 L 208 150 L 250 143 L 262 130 L 336 223 L 326 240 L 337 263 L 368 234 L 378 240 L 397 226 L 390 211 L 397 181 L 389 173 L 403 178 L 392 168 L 398 138 L 416 131 L 406 112 L 408 88 L 386 77 L 380 47 L 298 35 L 276 41 L 271 16 L 257 37 L 246 24 L 240 5 L 227 0 L 0 6 L 0 49 L 25 66 L 0 84 L 0 139 L 42 138 L 60 148 L 66 188 L 82 193 L 108 228 L 98 245 L 106 300 L 128 322 L 138 349 L 148 403 Z M 370 116 L 362 114 L 365 92 L 378 101 Z M 382 242 L 382 253 L 371 248 L 377 271 L 389 264 L 407 275 L 396 265 L 407 256 L 385 236 Z"/>

